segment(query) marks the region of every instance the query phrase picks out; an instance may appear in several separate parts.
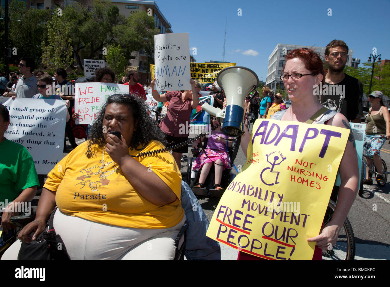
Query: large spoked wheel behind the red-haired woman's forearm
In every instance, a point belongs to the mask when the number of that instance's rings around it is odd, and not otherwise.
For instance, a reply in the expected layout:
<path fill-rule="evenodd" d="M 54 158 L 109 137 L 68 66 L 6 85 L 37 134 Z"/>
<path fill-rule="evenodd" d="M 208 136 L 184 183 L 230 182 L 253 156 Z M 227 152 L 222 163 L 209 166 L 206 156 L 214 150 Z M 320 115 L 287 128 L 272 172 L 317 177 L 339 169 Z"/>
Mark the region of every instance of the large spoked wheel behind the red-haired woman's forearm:
<path fill-rule="evenodd" d="M 329 200 L 328 208 L 325 212 L 324 225 L 332 219 L 336 203 Z M 353 260 L 355 258 L 355 236 L 348 217 L 344 221 L 337 242 L 331 250 L 323 250 L 323 260 Z"/>

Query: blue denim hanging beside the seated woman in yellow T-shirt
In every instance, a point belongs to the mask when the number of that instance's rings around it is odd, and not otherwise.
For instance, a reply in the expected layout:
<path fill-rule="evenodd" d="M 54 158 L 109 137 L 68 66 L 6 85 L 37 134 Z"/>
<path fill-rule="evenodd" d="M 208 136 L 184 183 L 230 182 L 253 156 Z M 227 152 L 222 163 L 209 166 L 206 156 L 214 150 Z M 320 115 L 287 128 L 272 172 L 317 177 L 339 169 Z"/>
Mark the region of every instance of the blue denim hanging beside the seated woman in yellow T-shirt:
<path fill-rule="evenodd" d="M 209 220 L 184 181 L 181 182 L 181 207 L 189 221 L 185 251 L 187 260 L 221 260 L 219 243 L 206 236 Z"/>

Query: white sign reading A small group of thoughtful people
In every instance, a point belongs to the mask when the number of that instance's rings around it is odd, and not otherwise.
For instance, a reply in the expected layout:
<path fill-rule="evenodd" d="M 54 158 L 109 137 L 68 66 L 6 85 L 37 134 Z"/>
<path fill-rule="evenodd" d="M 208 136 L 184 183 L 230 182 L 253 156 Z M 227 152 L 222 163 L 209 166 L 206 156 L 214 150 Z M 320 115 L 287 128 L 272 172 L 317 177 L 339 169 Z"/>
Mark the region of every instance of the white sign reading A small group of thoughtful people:
<path fill-rule="evenodd" d="M 10 116 L 10 124 L 4 136 L 27 148 L 39 175 L 48 174 L 63 157 L 65 101 L 0 99 Z"/>

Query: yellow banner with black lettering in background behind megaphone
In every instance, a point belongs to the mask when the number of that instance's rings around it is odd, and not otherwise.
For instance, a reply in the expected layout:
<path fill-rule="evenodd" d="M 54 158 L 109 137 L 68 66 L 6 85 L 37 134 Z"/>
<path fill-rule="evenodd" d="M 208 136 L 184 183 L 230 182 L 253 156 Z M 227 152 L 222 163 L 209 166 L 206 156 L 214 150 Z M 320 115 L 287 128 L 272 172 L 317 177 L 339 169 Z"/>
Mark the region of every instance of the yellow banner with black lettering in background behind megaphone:
<path fill-rule="evenodd" d="M 236 63 L 193 63 L 191 62 L 191 79 L 200 83 L 213 83 L 217 79 L 218 73 L 227 67 L 236 66 Z M 161 70 L 163 73 L 164 70 Z M 154 65 L 150 65 L 150 73 L 154 75 Z M 168 73 L 168 71 L 167 71 Z"/>

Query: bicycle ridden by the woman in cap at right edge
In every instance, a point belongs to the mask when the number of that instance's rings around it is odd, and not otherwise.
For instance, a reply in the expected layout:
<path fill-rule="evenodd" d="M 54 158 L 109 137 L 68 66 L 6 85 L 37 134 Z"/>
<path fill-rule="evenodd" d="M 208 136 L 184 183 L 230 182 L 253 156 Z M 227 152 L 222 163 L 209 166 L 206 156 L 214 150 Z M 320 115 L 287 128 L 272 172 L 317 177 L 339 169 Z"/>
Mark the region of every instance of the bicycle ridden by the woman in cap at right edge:
<path fill-rule="evenodd" d="M 378 136 L 378 137 L 373 137 L 371 140 L 373 139 L 386 139 L 385 136 Z M 362 174 L 360 176 L 360 189 L 359 189 L 359 195 L 362 196 L 363 194 L 363 180 L 365 178 L 365 171 L 366 171 L 366 167 L 369 169 L 369 174 L 370 175 L 375 175 L 375 178 L 376 176 L 378 175 L 378 172 L 376 171 L 376 167 L 375 167 L 375 164 L 374 164 L 374 158 L 372 157 L 372 155 L 368 155 L 367 154 L 367 150 L 371 147 L 371 141 L 369 140 L 366 140 L 364 143 L 363 143 L 363 162 L 362 162 Z M 368 164 L 367 162 L 367 159 L 371 159 L 372 160 L 372 164 Z M 382 174 L 383 174 L 383 180 L 377 180 L 376 179 L 376 182 L 379 186 L 385 186 L 386 182 L 387 182 L 387 175 L 390 173 L 387 171 L 387 166 L 386 166 L 386 162 L 385 160 L 381 159 L 382 160 Z"/>

